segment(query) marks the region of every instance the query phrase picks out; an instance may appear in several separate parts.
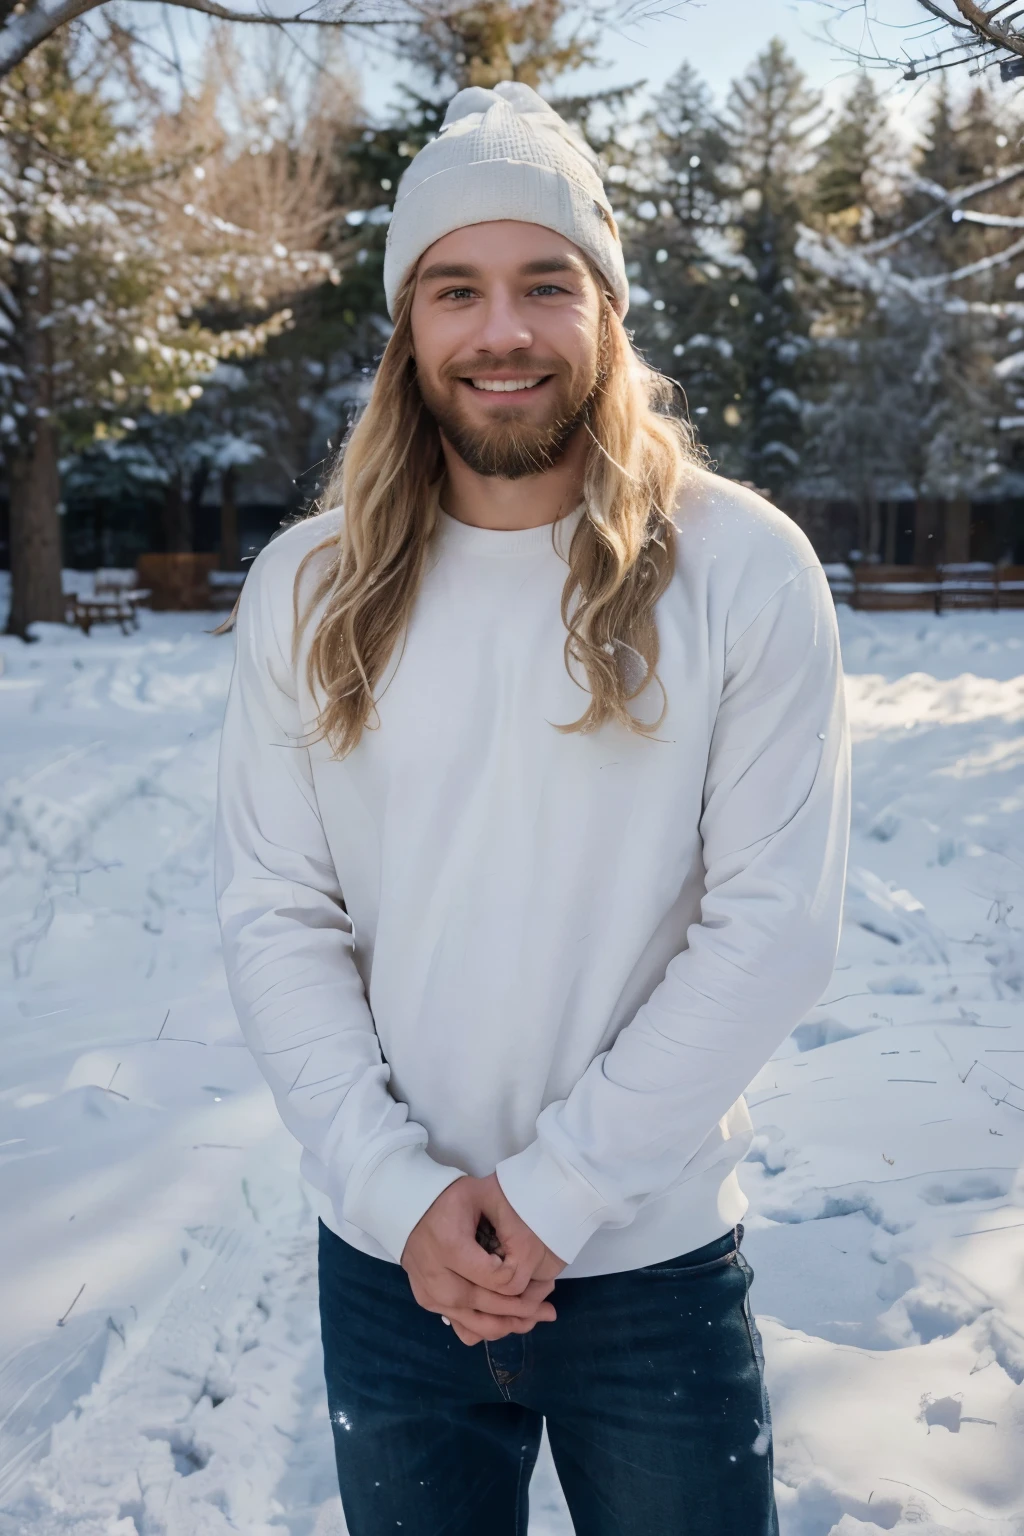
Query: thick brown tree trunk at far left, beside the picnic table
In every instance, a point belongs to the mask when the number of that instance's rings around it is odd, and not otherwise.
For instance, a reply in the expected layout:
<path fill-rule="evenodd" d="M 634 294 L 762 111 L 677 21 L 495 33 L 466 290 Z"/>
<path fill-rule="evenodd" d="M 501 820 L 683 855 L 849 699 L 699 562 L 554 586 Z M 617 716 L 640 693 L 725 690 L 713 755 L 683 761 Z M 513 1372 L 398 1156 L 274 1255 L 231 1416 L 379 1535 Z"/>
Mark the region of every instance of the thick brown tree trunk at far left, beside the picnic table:
<path fill-rule="evenodd" d="M 63 624 L 57 429 L 40 421 L 34 442 L 8 459 L 11 485 L 11 613 L 8 634 L 28 639 L 35 621 Z"/>

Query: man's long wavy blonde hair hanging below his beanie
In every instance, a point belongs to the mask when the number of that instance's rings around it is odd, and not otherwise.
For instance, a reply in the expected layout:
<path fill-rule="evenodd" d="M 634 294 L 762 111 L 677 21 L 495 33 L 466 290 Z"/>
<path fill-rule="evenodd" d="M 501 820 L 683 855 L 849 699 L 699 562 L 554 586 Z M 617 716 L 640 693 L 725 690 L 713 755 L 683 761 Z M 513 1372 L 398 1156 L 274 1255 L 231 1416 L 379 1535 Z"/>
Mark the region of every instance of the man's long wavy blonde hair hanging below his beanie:
<path fill-rule="evenodd" d="M 671 379 L 637 356 L 603 280 L 593 275 L 602 295 L 600 370 L 583 425 L 591 438 L 585 513 L 570 544 L 562 591 L 565 665 L 571 677 L 573 662 L 583 668 L 590 703 L 556 730 L 594 731 L 617 720 L 651 736 L 666 708 L 654 607 L 672 576 L 672 511 L 699 453 L 686 421 L 669 415 Z M 438 521 L 444 456 L 416 382 L 413 290 L 415 275 L 398 296 L 368 404 L 321 499 L 322 510 L 344 507 L 342 531 L 310 550 L 295 581 L 296 648 L 322 605 L 307 679 L 324 700 L 316 739 L 338 756 L 378 723 L 375 690 L 405 633 Z M 324 551 L 332 559 L 301 604 L 306 565 Z M 662 710 L 643 722 L 629 703 L 649 680 L 662 690 Z"/>

